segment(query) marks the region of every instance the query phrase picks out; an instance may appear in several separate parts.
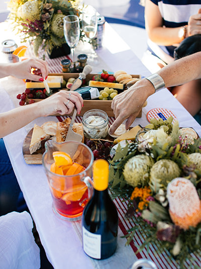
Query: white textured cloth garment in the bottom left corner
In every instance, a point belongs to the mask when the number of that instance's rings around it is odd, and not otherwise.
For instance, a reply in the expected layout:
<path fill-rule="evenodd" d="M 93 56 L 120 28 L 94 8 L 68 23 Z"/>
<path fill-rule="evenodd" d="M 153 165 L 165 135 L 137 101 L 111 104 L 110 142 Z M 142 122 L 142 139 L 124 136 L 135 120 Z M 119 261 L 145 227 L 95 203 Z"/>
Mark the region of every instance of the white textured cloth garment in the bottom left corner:
<path fill-rule="evenodd" d="M 27 211 L 0 217 L 0 268 L 40 268 L 40 249 L 32 228 L 33 221 Z"/>

